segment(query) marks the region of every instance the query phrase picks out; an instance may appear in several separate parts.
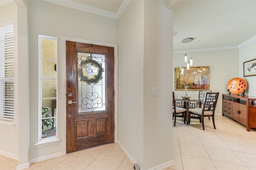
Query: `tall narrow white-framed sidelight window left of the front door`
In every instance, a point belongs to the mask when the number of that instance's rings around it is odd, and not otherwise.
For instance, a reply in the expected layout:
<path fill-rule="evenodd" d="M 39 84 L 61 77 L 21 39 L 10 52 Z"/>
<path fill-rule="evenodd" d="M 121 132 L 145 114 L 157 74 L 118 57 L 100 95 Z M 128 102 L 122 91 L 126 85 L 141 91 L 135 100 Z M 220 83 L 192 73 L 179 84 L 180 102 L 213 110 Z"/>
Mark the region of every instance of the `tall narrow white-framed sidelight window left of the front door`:
<path fill-rule="evenodd" d="M 57 136 L 57 38 L 39 35 L 39 141 Z"/>

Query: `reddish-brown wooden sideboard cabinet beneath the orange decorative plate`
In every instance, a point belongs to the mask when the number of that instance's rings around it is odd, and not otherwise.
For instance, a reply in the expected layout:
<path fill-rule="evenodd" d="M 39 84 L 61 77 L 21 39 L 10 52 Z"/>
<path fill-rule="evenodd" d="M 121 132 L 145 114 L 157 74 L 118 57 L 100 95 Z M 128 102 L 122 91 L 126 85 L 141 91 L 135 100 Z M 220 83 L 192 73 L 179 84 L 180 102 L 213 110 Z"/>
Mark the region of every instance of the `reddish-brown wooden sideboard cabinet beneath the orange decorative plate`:
<path fill-rule="evenodd" d="M 246 126 L 256 128 L 256 97 L 222 94 L 222 116 L 227 115 Z"/>

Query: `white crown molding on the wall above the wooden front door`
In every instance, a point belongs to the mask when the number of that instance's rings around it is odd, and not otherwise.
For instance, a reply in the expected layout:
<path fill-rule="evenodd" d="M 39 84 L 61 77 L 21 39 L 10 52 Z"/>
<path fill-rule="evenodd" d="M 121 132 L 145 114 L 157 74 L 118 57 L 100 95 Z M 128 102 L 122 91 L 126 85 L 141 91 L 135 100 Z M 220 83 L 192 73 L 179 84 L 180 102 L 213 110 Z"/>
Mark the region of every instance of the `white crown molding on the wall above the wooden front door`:
<path fill-rule="evenodd" d="M 115 12 L 111 12 L 111 11 L 108 11 L 108 10 L 103 10 L 103 9 L 100 9 L 100 8 L 96 8 L 94 6 L 89 6 L 89 5 L 86 5 L 86 4 L 81 4 L 81 3 L 70 1 L 70 0 L 44 0 L 44 1 L 51 2 L 51 3 L 54 3 L 54 4 L 58 4 L 58 5 L 62 5 L 62 6 L 66 6 L 66 7 L 70 7 L 70 8 L 74 8 L 76 10 L 82 10 L 82 11 L 85 11 L 85 12 L 90 12 L 92 14 L 97 14 L 97 15 L 106 16 L 106 17 L 109 17 L 109 18 L 118 19 L 118 15 Z"/>

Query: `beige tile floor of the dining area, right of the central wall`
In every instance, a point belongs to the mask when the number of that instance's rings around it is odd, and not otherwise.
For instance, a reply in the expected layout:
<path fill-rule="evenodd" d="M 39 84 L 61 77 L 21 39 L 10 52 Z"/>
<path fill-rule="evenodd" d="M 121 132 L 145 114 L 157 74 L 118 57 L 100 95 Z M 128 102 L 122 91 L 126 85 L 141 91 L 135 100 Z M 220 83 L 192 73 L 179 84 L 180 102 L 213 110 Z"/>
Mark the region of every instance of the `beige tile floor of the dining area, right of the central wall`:
<path fill-rule="evenodd" d="M 173 159 L 175 164 L 164 170 L 256 170 L 256 128 L 215 115 L 204 119 L 205 130 L 198 119 L 189 126 L 177 118 L 173 127 Z"/>

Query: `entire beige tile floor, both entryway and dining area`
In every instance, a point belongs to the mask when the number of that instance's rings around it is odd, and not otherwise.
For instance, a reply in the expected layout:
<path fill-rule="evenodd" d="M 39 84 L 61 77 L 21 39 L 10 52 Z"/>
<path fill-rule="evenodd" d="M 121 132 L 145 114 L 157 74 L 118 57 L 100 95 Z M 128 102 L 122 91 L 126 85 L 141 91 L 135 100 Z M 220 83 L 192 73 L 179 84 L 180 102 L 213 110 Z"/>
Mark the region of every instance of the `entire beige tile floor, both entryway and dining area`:
<path fill-rule="evenodd" d="M 198 119 L 189 126 L 177 118 L 173 127 L 175 164 L 164 170 L 256 170 L 256 128 L 246 127 L 228 117 Z M 18 164 L 0 156 L 0 170 L 15 170 Z M 117 143 L 107 144 L 32 163 L 28 170 L 133 170 L 133 164 Z"/>

